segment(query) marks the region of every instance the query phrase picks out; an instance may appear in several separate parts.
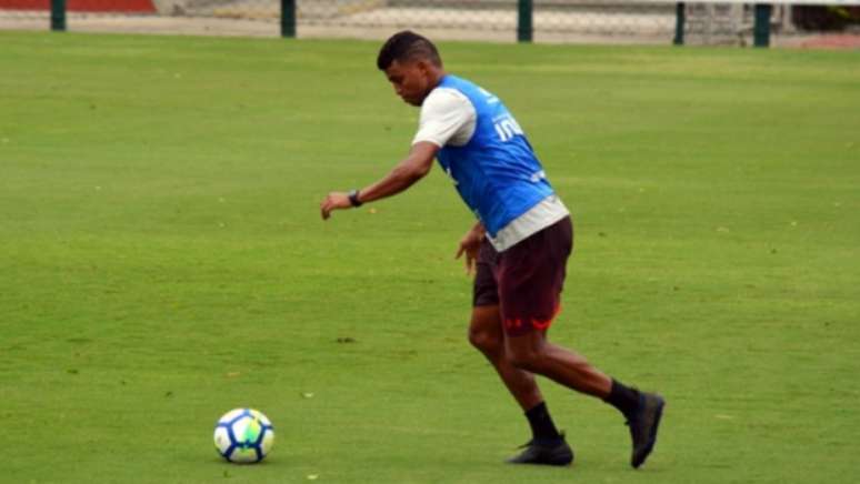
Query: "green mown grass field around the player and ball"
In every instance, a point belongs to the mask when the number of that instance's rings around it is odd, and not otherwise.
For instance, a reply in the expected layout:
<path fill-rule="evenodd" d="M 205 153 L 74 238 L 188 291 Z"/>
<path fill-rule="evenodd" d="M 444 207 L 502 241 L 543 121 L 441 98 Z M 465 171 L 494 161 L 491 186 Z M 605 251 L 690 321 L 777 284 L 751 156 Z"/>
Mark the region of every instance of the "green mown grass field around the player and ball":
<path fill-rule="evenodd" d="M 669 402 L 634 472 L 549 382 L 577 463 L 500 463 L 440 171 L 319 220 L 416 129 L 377 49 L 0 32 L 0 482 L 857 481 L 860 52 L 441 44 L 573 211 L 552 339 Z M 261 465 L 212 447 L 242 405 Z"/>

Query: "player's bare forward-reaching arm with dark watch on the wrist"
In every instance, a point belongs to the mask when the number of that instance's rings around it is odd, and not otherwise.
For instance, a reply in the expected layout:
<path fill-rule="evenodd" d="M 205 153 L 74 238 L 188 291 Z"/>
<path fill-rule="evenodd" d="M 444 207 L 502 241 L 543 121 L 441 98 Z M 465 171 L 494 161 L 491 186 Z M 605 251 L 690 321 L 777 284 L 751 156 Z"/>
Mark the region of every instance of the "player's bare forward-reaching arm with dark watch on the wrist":
<path fill-rule="evenodd" d="M 350 209 L 362 203 L 396 195 L 412 186 L 430 172 L 439 147 L 428 141 L 419 141 L 409 150 L 409 155 L 398 163 L 382 180 L 359 190 L 350 199 L 346 192 L 331 192 L 320 203 L 322 219 L 327 220 L 334 210 Z M 353 202 L 354 200 L 354 202 Z"/>

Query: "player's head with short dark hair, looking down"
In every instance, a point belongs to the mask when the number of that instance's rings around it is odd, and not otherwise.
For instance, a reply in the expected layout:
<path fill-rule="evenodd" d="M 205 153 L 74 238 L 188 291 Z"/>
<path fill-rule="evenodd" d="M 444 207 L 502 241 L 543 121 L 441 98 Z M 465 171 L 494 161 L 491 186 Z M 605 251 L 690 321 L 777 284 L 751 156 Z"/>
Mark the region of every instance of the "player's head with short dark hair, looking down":
<path fill-rule="evenodd" d="M 421 105 L 444 75 L 436 46 L 409 30 L 386 41 L 379 50 L 377 67 L 386 73 L 397 95 L 412 105 Z"/>

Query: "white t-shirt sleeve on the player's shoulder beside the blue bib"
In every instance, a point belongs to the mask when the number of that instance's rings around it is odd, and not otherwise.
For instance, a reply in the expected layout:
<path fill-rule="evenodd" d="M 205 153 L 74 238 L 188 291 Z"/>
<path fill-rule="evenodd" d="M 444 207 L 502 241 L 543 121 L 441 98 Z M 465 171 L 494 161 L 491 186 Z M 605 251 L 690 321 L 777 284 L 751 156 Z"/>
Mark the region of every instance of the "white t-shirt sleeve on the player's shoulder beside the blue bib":
<path fill-rule="evenodd" d="M 434 89 L 421 105 L 421 119 L 412 144 L 428 141 L 438 147 L 463 145 L 474 132 L 476 111 L 469 98 L 453 89 Z"/>

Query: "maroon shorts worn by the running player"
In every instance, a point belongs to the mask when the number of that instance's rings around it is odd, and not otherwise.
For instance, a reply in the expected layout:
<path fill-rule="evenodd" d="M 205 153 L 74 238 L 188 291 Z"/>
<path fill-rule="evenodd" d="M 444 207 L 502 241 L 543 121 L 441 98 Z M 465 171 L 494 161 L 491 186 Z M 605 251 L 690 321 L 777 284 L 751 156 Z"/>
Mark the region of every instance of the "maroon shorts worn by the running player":
<path fill-rule="evenodd" d="M 472 305 L 499 305 L 504 332 L 546 331 L 561 309 L 568 258 L 573 250 L 570 216 L 503 252 L 483 241 L 478 255 Z"/>

